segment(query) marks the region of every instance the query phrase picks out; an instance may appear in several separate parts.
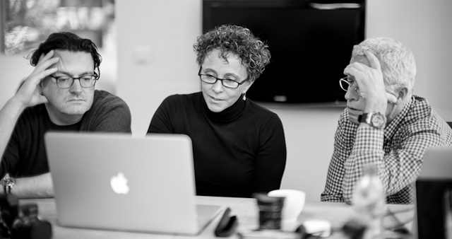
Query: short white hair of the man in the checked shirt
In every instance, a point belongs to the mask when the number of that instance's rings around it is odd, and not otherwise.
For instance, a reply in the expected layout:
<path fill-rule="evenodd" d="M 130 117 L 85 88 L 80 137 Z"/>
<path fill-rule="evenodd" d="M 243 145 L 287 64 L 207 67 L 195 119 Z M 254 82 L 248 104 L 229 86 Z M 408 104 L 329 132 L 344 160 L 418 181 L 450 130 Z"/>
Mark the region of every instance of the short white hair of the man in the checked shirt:
<path fill-rule="evenodd" d="M 410 49 L 397 40 L 375 37 L 355 45 L 352 57 L 365 57 L 363 49 L 374 53 L 379 59 L 387 87 L 405 86 L 408 88 L 408 92 L 412 93 L 412 89 L 415 87 L 416 62 Z"/>

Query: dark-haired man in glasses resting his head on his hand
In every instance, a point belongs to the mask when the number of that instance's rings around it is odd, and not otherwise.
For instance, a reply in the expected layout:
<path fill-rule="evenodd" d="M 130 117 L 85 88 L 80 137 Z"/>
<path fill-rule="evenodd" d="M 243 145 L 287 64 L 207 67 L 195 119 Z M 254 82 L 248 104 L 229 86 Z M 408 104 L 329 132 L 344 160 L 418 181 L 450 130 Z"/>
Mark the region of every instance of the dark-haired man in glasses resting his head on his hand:
<path fill-rule="evenodd" d="M 126 103 L 95 90 L 101 61 L 95 44 L 73 33 L 53 33 L 33 52 L 35 69 L 0 110 L 5 193 L 53 196 L 44 147 L 48 131 L 131 132 Z"/>

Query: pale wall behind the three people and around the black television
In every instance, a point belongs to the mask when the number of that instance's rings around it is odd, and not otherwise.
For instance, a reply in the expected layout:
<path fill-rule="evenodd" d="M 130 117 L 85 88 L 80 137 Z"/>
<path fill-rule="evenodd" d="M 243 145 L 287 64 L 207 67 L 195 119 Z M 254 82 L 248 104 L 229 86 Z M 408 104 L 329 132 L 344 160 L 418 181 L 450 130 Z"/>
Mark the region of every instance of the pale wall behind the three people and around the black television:
<path fill-rule="evenodd" d="M 99 87 L 108 89 L 117 83 L 116 93 L 131 107 L 133 134 L 144 135 L 167 95 L 200 89 L 192 45 L 201 34 L 201 0 L 119 0 L 116 4 L 117 68 L 105 63 L 102 55 L 106 86 Z M 393 37 L 412 49 L 418 69 L 415 93 L 428 98 L 450 121 L 451 9 L 450 0 L 368 0 L 366 33 L 367 37 Z M 21 56 L 0 55 L 0 105 L 31 71 Z M 287 167 L 282 187 L 304 190 L 308 201 L 319 201 L 342 109 L 267 106 L 278 113 L 285 128 Z"/>

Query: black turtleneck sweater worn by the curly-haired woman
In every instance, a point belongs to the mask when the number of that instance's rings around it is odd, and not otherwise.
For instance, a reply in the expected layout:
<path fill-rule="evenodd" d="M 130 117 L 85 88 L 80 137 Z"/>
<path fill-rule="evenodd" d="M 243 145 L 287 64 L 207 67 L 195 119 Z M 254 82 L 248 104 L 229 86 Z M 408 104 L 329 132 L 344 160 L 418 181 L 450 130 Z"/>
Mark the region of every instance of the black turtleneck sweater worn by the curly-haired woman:
<path fill-rule="evenodd" d="M 283 124 L 249 99 L 211 112 L 202 93 L 171 95 L 158 107 L 148 133 L 190 136 L 198 195 L 251 197 L 280 187 L 286 161 Z"/>

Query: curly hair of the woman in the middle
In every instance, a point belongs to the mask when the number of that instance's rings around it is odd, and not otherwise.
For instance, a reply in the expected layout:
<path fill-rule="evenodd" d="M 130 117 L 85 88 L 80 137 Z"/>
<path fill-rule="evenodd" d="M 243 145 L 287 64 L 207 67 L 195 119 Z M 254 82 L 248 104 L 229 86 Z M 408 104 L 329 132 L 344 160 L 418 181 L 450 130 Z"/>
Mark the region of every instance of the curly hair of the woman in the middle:
<path fill-rule="evenodd" d="M 251 81 L 261 76 L 271 57 L 265 42 L 255 37 L 248 28 L 237 25 L 220 25 L 210 30 L 198 37 L 193 48 L 199 66 L 213 49 L 220 49 L 219 57 L 226 62 L 227 54 L 237 55 L 242 60 Z"/>

